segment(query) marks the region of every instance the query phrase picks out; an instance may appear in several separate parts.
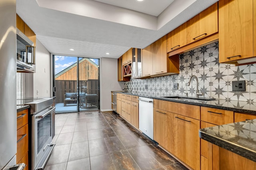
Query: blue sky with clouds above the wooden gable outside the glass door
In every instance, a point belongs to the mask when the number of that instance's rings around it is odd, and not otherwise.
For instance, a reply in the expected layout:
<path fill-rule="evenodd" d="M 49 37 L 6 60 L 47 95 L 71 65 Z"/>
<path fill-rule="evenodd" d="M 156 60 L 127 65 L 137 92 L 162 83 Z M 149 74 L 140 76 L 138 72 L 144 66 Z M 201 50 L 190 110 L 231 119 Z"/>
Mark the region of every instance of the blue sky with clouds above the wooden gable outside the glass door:
<path fill-rule="evenodd" d="M 82 58 L 79 58 L 79 60 L 80 59 Z M 76 63 L 76 60 L 77 60 L 77 57 L 55 55 L 55 74 L 58 74 L 62 70 Z M 99 59 L 90 59 L 90 60 L 98 65 Z"/>

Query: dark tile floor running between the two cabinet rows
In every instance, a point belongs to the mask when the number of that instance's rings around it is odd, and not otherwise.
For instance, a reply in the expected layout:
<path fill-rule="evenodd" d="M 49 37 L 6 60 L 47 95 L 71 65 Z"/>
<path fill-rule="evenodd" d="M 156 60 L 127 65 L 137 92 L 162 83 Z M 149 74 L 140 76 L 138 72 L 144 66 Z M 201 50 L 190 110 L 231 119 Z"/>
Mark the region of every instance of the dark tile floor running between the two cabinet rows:
<path fill-rule="evenodd" d="M 44 170 L 187 170 L 112 112 L 56 114 Z"/>

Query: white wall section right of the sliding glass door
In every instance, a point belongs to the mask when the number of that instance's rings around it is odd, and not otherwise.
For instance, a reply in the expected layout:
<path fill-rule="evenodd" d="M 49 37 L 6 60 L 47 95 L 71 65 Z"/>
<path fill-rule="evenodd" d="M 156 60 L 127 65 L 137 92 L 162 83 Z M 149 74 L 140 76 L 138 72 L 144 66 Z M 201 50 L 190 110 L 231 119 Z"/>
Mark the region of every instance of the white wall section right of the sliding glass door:
<path fill-rule="evenodd" d="M 117 59 L 101 59 L 100 80 L 100 110 L 110 111 L 111 91 L 121 91 L 124 88 L 124 82 L 118 82 Z"/>

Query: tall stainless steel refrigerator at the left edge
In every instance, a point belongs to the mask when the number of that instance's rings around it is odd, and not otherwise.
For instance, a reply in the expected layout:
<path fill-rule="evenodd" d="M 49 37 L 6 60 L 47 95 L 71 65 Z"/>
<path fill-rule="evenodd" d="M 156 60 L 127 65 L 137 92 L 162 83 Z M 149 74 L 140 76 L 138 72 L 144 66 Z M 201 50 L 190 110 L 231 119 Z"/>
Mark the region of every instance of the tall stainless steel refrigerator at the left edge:
<path fill-rule="evenodd" d="M 16 164 L 16 0 L 0 0 L 0 170 Z"/>

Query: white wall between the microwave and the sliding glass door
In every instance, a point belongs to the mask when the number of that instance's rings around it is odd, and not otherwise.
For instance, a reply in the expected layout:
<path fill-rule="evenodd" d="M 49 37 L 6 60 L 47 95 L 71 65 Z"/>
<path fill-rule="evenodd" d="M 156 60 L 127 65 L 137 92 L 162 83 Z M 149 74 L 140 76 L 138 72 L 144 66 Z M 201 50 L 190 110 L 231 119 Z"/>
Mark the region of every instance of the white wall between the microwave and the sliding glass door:
<path fill-rule="evenodd" d="M 36 73 L 33 74 L 34 97 L 50 97 L 50 52 L 36 39 Z M 38 93 L 37 93 L 38 90 Z"/>

